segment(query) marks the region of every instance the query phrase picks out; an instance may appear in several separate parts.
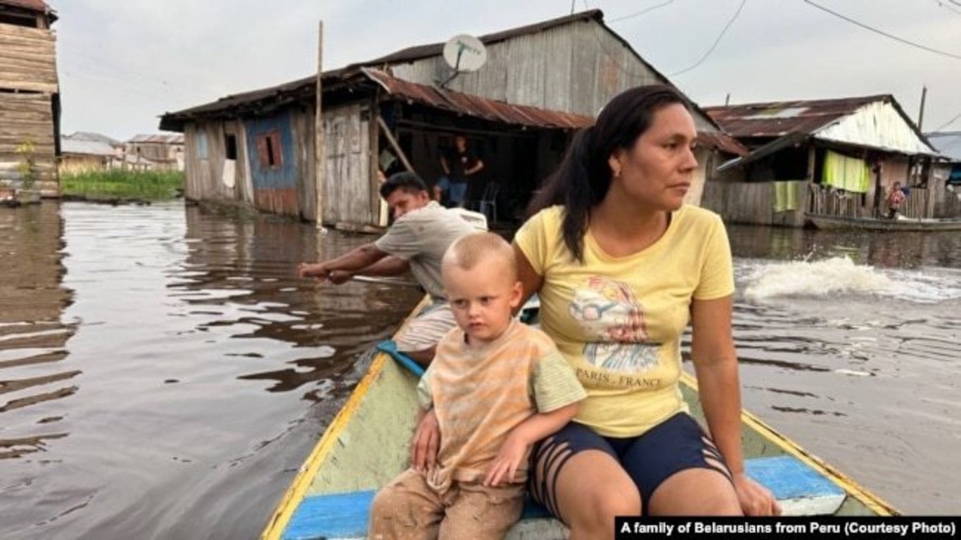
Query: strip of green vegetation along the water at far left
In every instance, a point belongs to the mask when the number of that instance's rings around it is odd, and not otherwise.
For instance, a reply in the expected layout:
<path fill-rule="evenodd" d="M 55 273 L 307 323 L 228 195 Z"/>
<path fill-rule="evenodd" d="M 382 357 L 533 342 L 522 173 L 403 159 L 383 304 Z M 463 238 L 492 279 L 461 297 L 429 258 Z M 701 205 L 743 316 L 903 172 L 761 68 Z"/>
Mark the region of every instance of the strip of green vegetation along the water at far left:
<path fill-rule="evenodd" d="M 61 175 L 61 194 L 91 200 L 168 201 L 181 195 L 181 171 L 111 169 Z"/>

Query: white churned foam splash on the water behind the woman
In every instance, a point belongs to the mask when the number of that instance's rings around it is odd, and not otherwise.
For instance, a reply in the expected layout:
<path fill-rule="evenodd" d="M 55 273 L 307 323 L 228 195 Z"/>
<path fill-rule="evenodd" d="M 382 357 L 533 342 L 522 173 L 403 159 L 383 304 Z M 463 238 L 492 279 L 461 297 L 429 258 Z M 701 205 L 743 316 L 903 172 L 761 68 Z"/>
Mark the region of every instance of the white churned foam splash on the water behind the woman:
<path fill-rule="evenodd" d="M 744 297 L 750 301 L 841 294 L 893 297 L 921 304 L 961 299 L 961 280 L 946 268 L 879 270 L 855 264 L 847 257 L 835 257 L 761 263 L 749 267 L 747 274 Z"/>

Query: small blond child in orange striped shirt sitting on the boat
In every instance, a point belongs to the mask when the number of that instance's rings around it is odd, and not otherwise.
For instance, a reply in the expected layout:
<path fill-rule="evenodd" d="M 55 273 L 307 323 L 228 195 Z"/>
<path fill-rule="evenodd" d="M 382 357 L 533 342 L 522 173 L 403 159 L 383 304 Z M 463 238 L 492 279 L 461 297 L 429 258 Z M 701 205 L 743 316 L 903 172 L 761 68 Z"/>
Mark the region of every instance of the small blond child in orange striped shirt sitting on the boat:
<path fill-rule="evenodd" d="M 531 445 L 553 434 L 585 397 L 542 331 L 515 320 L 521 301 L 513 249 L 494 233 L 458 238 L 441 264 L 457 323 L 418 386 L 440 448 L 407 469 L 371 507 L 369 538 L 502 538 L 521 515 Z"/>

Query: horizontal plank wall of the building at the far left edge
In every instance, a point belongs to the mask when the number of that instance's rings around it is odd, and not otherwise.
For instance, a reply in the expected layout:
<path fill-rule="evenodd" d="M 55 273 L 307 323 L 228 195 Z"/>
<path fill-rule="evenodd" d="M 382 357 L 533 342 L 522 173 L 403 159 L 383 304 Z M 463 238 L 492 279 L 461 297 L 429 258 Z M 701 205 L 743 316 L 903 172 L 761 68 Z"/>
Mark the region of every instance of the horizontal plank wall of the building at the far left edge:
<path fill-rule="evenodd" d="M 34 173 L 44 195 L 57 194 L 53 95 L 58 93 L 56 39 L 50 30 L 0 24 L 0 182 L 17 182 L 23 158 L 16 147 L 34 144 Z"/>

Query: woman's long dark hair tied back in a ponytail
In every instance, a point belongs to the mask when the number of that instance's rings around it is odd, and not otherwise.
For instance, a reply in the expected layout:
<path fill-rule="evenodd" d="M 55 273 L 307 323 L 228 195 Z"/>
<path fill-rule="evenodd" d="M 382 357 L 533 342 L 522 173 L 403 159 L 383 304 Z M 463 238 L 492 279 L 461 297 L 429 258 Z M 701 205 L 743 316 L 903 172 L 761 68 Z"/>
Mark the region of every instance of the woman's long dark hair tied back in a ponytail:
<path fill-rule="evenodd" d="M 632 148 L 651 127 L 654 113 L 676 103 L 688 107 L 678 90 L 663 85 L 636 86 L 614 96 L 593 126 L 574 135 L 564 159 L 530 202 L 528 215 L 563 205 L 564 244 L 583 261 L 583 237 L 591 209 L 604 200 L 610 188 L 608 158 L 618 149 Z"/>

